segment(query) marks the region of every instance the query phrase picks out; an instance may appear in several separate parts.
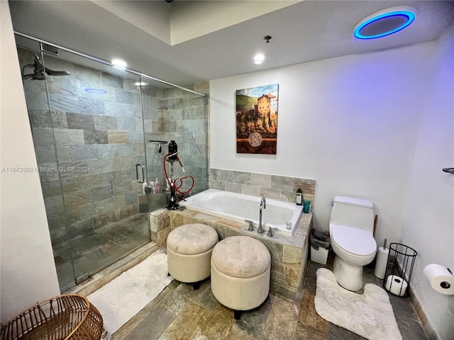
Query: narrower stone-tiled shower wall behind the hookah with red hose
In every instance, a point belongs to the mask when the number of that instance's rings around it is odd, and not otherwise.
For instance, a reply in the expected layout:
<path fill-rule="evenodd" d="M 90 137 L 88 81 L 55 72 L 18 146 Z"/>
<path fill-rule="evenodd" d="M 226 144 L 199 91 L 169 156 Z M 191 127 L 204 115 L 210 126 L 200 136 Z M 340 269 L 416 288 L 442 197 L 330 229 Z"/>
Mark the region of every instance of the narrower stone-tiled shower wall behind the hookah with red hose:
<path fill-rule="evenodd" d="M 209 93 L 209 83 L 201 82 L 190 84 L 192 89 L 201 94 Z M 145 133 L 146 140 L 175 140 L 178 145 L 179 157 L 182 160 L 185 173 L 178 163 L 174 164 L 175 178 L 190 174 L 195 179 L 192 194 L 208 188 L 208 137 L 207 137 L 207 109 L 208 98 L 192 94 L 182 89 L 157 89 L 159 98 L 157 108 L 151 110 L 145 105 Z M 153 98 L 153 97 L 152 97 Z M 150 119 L 150 124 L 146 124 Z M 162 145 L 162 152 L 158 153 L 158 145 L 147 143 L 148 173 L 155 174 L 158 181 L 164 185 L 165 174 L 162 159 L 167 154 L 168 145 Z M 167 164 L 170 176 L 170 165 Z M 155 179 L 151 179 L 154 181 Z M 189 180 L 184 183 L 190 183 Z M 189 189 L 186 185 L 184 191 Z M 183 191 L 183 190 L 182 190 Z M 153 199 L 153 198 L 152 198 Z"/>

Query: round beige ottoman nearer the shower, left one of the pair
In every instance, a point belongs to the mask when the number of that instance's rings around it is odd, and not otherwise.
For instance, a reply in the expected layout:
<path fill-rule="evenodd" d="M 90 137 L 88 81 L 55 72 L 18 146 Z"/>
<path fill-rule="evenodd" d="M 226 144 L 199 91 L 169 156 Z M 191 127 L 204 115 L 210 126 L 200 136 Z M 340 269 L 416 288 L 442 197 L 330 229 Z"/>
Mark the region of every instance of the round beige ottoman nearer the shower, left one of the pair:
<path fill-rule="evenodd" d="M 218 243 L 218 233 L 209 225 L 194 223 L 182 225 L 167 236 L 167 268 L 173 278 L 193 283 L 194 290 L 200 281 L 210 276 L 210 259 Z"/>

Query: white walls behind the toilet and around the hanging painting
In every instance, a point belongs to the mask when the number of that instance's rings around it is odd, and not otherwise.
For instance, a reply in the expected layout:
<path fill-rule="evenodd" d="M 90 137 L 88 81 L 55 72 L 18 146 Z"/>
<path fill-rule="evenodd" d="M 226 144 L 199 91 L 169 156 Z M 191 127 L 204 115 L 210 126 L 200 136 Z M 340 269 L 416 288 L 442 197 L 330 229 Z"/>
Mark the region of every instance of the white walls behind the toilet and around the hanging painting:
<path fill-rule="evenodd" d="M 411 285 L 440 339 L 454 296 L 428 263 L 454 269 L 454 28 L 436 42 L 294 65 L 210 83 L 210 166 L 316 179 L 315 227 L 335 195 L 372 200 L 376 239 L 418 251 Z M 277 155 L 236 154 L 235 91 L 279 84 Z M 435 339 L 435 338 L 433 338 Z"/>

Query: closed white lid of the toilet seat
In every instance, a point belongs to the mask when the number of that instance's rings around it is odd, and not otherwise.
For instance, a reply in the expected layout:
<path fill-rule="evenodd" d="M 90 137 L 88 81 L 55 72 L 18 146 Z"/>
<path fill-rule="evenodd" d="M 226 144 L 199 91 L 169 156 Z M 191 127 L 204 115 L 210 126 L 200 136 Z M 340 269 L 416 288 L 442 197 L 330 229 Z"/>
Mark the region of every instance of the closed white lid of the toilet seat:
<path fill-rule="evenodd" d="M 372 232 L 346 225 L 331 225 L 330 232 L 331 239 L 350 253 L 367 256 L 377 251 L 377 243 Z"/>

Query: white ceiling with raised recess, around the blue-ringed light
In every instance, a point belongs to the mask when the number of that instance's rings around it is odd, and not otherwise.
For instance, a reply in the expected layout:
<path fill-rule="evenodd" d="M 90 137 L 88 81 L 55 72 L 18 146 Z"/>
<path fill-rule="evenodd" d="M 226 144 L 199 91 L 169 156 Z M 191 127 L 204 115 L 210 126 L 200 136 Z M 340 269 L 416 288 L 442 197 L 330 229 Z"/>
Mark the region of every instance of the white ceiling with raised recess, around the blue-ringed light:
<path fill-rule="evenodd" d="M 185 85 L 436 40 L 454 1 L 10 1 L 15 30 Z M 416 9 L 411 26 L 377 40 L 354 26 L 381 9 Z M 260 9 L 257 9 L 260 8 Z M 270 43 L 263 37 L 271 35 Z M 262 52 L 265 62 L 253 64 Z"/>

